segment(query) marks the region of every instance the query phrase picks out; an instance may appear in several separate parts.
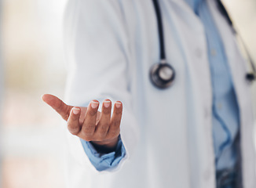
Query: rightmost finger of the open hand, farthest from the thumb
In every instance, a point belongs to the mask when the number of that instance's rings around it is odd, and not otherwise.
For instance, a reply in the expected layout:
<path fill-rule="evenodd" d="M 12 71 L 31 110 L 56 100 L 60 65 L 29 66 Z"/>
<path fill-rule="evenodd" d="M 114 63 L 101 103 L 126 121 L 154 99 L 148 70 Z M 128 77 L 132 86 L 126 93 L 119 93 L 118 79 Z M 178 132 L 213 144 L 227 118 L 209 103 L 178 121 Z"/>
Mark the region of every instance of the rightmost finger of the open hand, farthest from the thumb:
<path fill-rule="evenodd" d="M 108 129 L 108 137 L 113 138 L 115 136 L 119 136 L 122 113 L 123 104 L 120 101 L 115 102 L 114 111 Z"/>

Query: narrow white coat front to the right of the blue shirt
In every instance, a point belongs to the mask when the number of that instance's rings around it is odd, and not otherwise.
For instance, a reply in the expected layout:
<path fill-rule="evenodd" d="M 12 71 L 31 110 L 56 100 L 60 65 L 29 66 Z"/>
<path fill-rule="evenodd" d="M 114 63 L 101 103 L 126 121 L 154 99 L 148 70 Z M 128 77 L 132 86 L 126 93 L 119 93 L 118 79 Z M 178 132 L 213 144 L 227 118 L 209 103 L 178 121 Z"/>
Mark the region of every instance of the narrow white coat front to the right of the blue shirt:
<path fill-rule="evenodd" d="M 218 9 L 214 9 L 216 3 L 208 0 L 210 11 L 214 16 L 214 20 L 220 28 L 220 34 L 225 46 L 226 56 L 229 60 L 229 67 L 232 72 L 232 79 L 236 89 L 236 96 L 240 107 L 240 126 L 241 126 L 241 153 L 242 153 L 242 169 L 243 169 L 243 187 L 256 187 L 255 181 L 255 154 L 253 140 L 253 113 L 251 104 L 251 89 L 245 79 L 246 63 L 237 47 L 236 38 L 229 27 L 227 21 Z"/>

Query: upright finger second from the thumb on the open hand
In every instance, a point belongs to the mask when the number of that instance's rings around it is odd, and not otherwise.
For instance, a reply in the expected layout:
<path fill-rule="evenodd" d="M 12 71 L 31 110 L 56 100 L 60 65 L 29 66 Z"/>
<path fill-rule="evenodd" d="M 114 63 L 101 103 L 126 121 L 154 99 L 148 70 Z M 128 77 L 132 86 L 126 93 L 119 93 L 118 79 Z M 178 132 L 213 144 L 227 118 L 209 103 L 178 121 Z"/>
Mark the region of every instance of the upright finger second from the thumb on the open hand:
<path fill-rule="evenodd" d="M 85 139 L 86 141 L 90 141 L 91 139 L 93 139 L 98 107 L 99 102 L 97 100 L 93 100 L 90 102 L 86 110 L 85 121 L 83 121 L 82 130 L 79 133 L 82 139 Z"/>

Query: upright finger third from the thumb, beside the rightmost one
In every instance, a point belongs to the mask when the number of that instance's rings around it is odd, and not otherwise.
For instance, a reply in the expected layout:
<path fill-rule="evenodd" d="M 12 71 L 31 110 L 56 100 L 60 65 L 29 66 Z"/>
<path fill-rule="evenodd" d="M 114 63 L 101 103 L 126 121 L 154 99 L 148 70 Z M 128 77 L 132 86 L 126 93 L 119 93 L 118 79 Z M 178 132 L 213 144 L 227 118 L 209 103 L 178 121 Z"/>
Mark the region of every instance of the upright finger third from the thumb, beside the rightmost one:
<path fill-rule="evenodd" d="M 112 109 L 111 100 L 105 99 L 102 104 L 101 118 L 99 123 L 97 124 L 96 130 L 94 133 L 94 138 L 97 138 L 98 140 L 102 140 L 107 135 L 109 123 L 110 123 L 110 117 L 111 117 L 111 109 Z"/>

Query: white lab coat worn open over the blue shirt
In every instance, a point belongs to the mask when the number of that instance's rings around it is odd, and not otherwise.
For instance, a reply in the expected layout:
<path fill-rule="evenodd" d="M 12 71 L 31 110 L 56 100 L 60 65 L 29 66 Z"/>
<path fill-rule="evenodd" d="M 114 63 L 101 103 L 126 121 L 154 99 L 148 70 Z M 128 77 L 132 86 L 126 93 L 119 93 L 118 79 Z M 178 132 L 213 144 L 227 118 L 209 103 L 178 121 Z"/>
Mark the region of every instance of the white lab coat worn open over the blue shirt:
<path fill-rule="evenodd" d="M 79 138 L 68 133 L 68 187 L 214 188 L 212 92 L 203 24 L 181 0 L 160 0 L 166 56 L 177 77 L 159 90 L 149 70 L 159 62 L 151 0 L 71 0 L 65 17 L 66 102 L 123 101 L 126 157 L 97 172 Z M 240 107 L 244 188 L 255 188 L 253 113 L 247 71 L 236 38 L 208 0 L 229 60 Z"/>

